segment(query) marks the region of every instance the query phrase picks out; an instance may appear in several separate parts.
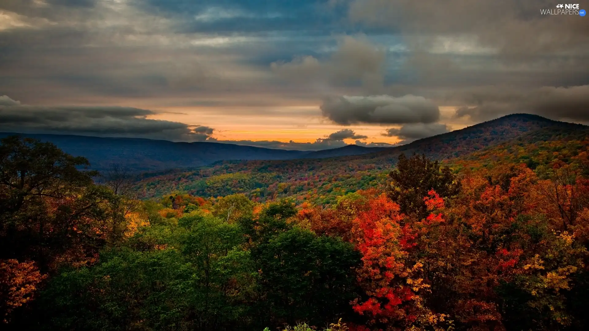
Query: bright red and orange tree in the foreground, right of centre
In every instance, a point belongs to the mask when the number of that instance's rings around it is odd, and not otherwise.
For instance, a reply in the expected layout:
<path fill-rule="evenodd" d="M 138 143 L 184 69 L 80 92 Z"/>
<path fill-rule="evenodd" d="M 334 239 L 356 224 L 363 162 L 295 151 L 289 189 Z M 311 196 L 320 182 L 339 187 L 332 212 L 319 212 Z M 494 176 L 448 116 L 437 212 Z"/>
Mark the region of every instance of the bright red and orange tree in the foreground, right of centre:
<path fill-rule="evenodd" d="M 381 194 L 353 221 L 352 240 L 362 254 L 357 277 L 368 296 L 356 299 L 353 309 L 366 316 L 369 325 L 387 330 L 438 330 L 444 315 L 423 304 L 421 293 L 429 285 L 419 277 L 422 262 L 412 261 L 409 254 L 417 234 L 402 221 L 400 209 Z"/>

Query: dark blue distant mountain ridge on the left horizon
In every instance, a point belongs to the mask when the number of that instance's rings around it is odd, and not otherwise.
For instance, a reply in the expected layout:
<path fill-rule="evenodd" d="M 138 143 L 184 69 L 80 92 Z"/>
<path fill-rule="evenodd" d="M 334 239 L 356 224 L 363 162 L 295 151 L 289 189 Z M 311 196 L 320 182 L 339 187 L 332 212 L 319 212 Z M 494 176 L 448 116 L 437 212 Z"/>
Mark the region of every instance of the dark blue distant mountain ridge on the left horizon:
<path fill-rule="evenodd" d="M 0 133 L 0 138 L 17 133 Z M 274 150 L 221 143 L 174 143 L 143 138 L 104 138 L 82 135 L 18 134 L 50 141 L 75 156 L 84 156 L 91 168 L 104 170 L 117 163 L 132 171 L 201 167 L 220 160 L 285 160 L 306 151 Z"/>

